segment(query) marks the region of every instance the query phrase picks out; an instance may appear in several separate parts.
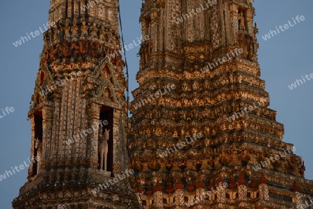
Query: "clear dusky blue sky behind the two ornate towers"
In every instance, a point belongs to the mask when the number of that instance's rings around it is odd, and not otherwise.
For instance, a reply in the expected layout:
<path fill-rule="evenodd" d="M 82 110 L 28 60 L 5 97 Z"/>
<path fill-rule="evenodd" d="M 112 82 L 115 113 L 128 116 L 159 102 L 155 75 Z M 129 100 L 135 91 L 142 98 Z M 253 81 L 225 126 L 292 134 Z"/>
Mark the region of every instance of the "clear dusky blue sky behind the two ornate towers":
<path fill-rule="evenodd" d="M 305 177 L 313 178 L 312 159 L 312 89 L 313 81 L 290 90 L 288 85 L 305 74 L 313 73 L 312 20 L 310 11 L 312 0 L 255 0 L 255 22 L 259 28 L 259 64 L 261 78 L 266 81 L 266 91 L 271 98 L 270 108 L 277 110 L 278 122 L 284 124 L 284 141 L 293 143 L 295 153 L 303 157 L 306 165 Z M 130 44 L 141 35 L 138 22 L 141 0 L 121 0 L 122 26 L 125 44 Z M 0 25 L 0 110 L 13 107 L 0 118 L 0 175 L 19 166 L 30 158 L 31 125 L 26 121 L 29 101 L 33 94 L 36 74 L 39 67 L 39 56 L 42 51 L 42 35 L 31 38 L 28 42 L 15 47 L 13 42 L 26 33 L 36 31 L 47 24 L 49 1 L 3 1 L 1 3 Z M 275 30 L 275 26 L 292 22 L 296 15 L 305 16 L 305 21 L 287 29 L 280 34 L 263 40 L 262 36 Z M 129 64 L 129 87 L 138 87 L 139 48 L 127 51 Z M 311 96 L 310 96 L 311 95 Z M 0 111 L 0 115 L 3 115 Z M 26 182 L 27 169 L 0 181 L 0 206 L 12 208 L 11 201 L 18 196 L 19 187 Z"/>

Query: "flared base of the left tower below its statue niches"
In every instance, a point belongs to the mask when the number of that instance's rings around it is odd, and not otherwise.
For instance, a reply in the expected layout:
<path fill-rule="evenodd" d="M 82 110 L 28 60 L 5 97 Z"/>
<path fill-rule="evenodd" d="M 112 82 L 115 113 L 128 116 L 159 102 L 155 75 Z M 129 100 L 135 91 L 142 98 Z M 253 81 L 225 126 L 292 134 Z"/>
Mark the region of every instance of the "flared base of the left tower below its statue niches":
<path fill-rule="evenodd" d="M 15 209 L 62 208 L 139 208 L 128 180 L 114 183 L 113 177 L 94 169 L 68 169 L 45 172 L 25 183 L 19 197 L 13 200 Z M 114 183 L 101 187 L 109 179 Z M 129 185 L 129 186 L 127 186 Z"/>

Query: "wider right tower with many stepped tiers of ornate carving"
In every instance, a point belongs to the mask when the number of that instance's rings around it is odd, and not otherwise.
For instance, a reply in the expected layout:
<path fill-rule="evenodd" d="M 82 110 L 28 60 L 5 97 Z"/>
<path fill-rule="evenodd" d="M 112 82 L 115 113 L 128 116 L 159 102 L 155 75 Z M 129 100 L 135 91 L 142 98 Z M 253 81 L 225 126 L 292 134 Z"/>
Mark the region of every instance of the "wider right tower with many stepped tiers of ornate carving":
<path fill-rule="evenodd" d="M 296 208 L 313 183 L 268 108 L 252 0 L 145 0 L 129 148 L 144 208 Z"/>

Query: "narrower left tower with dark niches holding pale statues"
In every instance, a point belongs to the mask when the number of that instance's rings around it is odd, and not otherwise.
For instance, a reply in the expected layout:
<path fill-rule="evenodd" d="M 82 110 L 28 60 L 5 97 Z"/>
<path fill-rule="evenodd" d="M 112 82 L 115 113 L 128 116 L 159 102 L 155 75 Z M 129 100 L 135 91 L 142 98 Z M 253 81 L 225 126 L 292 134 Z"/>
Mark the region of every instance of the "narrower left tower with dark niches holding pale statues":
<path fill-rule="evenodd" d="M 29 111 L 40 160 L 13 208 L 136 208 L 117 15 L 118 0 L 51 0 Z"/>

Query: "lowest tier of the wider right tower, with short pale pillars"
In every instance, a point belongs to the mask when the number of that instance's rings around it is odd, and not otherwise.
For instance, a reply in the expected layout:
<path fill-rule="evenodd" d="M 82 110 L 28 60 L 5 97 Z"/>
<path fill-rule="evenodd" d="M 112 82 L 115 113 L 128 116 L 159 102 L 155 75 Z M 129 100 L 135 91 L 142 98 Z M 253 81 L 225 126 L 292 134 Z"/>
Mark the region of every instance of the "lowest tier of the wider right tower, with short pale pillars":
<path fill-rule="evenodd" d="M 225 167 L 222 168 L 226 169 Z M 159 208 L 279 208 L 291 209 L 296 208 L 300 201 L 303 201 L 303 196 L 300 197 L 300 192 L 291 191 L 291 188 L 286 185 L 268 182 L 267 178 L 272 181 L 282 181 L 278 179 L 274 173 L 269 175 L 264 172 L 264 176 L 258 179 L 250 180 L 248 183 L 244 178 L 239 177 L 237 181 L 227 181 L 227 187 L 223 186 L 211 187 L 211 185 L 201 185 L 201 183 L 185 183 L 187 186 L 184 189 L 170 189 L 167 187 L 163 192 L 155 192 L 154 187 L 141 194 L 141 203 L 143 208 L 153 208 L 152 204 L 162 203 Z M 223 175 L 223 173 L 221 174 Z M 282 178 L 286 178 L 284 176 Z M 275 179 L 274 179 L 275 178 Z M 218 181 L 223 181 L 218 180 Z M 244 184 L 246 181 L 247 184 Z M 265 181 L 265 182 L 264 182 Z M 312 181 L 296 179 L 303 184 L 311 184 Z M 225 181 L 223 181 L 225 182 Z M 179 187 L 180 183 L 175 186 Z M 289 184 L 289 182 L 288 182 Z M 223 185 L 223 184 L 222 184 Z M 231 187 L 231 188 L 230 188 Z M 292 187 L 292 185 L 291 185 Z M 205 188 L 205 189 L 204 189 Z M 296 187 L 292 188 L 296 190 Z M 209 193 L 208 193 L 209 192 Z M 303 192 L 303 191 L 301 191 Z M 138 194 L 139 196 L 139 194 Z M 307 195 L 306 202 L 310 203 L 310 195 Z"/>

